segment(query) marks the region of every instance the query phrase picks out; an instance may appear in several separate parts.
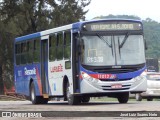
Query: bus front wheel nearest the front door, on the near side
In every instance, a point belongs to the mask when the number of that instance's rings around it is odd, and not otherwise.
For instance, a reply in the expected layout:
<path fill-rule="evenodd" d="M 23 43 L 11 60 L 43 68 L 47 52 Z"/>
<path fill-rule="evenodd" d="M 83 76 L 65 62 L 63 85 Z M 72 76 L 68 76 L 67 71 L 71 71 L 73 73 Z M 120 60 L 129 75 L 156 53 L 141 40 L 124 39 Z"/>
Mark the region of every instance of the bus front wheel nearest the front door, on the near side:
<path fill-rule="evenodd" d="M 69 83 L 67 82 L 66 85 L 66 95 L 67 95 L 67 101 L 69 105 L 78 105 L 81 102 L 81 99 L 79 96 L 75 96 L 70 93 L 69 91 Z"/>

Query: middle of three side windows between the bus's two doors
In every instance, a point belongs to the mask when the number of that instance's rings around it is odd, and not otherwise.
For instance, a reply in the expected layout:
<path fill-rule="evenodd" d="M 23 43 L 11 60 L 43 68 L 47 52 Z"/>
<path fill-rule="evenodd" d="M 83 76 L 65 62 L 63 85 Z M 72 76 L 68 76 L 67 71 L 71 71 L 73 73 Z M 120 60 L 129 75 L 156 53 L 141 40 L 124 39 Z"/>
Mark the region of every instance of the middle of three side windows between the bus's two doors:
<path fill-rule="evenodd" d="M 63 59 L 63 34 L 57 34 L 57 60 Z"/>

